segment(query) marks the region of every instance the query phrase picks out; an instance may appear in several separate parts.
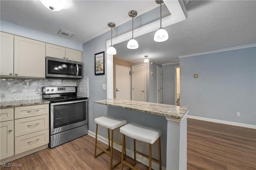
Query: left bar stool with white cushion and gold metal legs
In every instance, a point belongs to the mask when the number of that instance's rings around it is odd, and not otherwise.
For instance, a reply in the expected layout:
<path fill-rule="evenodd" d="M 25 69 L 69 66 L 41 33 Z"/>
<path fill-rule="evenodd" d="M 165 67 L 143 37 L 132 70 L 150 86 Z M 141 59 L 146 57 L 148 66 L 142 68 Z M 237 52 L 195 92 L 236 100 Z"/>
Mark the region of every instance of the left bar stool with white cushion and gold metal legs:
<path fill-rule="evenodd" d="M 106 152 L 110 155 L 110 170 L 118 166 L 120 164 L 121 160 L 119 160 L 116 164 L 112 165 L 113 162 L 113 142 L 122 145 L 122 143 L 119 143 L 117 141 L 114 141 L 113 134 L 114 134 L 114 129 L 121 127 L 123 125 L 126 125 L 126 120 L 122 119 L 117 119 L 114 117 L 110 116 L 102 116 L 94 119 L 94 122 L 96 123 L 96 136 L 95 136 L 95 149 L 94 149 L 94 157 L 96 158 L 97 156 L 101 155 L 102 153 Z M 98 125 L 101 125 L 102 127 L 105 127 L 108 129 L 108 149 L 103 149 L 102 147 L 97 145 L 97 137 L 98 137 Z M 111 129 L 111 138 L 110 138 L 110 133 L 109 129 Z M 111 141 L 111 145 L 110 145 Z M 98 153 L 96 155 L 96 150 L 97 147 L 102 150 L 102 152 Z M 110 152 L 108 151 L 110 150 Z M 125 157 L 126 157 L 126 152 L 125 152 Z"/>

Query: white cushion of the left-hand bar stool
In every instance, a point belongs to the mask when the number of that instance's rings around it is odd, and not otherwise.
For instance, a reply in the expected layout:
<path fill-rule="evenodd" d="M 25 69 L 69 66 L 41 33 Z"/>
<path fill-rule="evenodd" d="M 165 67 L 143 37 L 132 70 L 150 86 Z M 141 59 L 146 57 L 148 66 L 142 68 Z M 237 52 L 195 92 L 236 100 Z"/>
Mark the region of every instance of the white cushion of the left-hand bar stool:
<path fill-rule="evenodd" d="M 111 130 L 121 127 L 123 125 L 126 125 L 126 120 L 117 119 L 111 116 L 102 116 L 102 117 L 95 118 L 94 122 L 97 123 L 98 125 L 101 125 L 102 127 L 106 127 Z"/>

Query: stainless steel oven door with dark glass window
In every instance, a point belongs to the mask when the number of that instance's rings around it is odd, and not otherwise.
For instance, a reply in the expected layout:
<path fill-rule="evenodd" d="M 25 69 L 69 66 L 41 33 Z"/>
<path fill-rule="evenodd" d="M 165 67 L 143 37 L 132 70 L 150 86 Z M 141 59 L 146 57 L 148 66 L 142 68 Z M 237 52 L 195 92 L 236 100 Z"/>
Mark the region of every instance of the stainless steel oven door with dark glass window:
<path fill-rule="evenodd" d="M 88 124 L 88 100 L 50 104 L 51 135 Z"/>

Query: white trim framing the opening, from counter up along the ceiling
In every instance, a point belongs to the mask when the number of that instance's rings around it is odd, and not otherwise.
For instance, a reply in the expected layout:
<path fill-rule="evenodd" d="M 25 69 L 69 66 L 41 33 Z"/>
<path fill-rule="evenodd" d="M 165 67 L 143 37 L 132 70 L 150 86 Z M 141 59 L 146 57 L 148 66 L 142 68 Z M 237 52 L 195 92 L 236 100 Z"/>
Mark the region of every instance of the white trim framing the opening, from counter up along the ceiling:
<path fill-rule="evenodd" d="M 166 0 L 164 1 L 166 7 L 170 11 L 171 15 L 165 18 L 162 18 L 162 26 L 166 27 L 172 25 L 174 23 L 178 23 L 180 21 L 186 20 L 186 16 L 182 7 L 180 6 L 180 2 L 178 0 Z M 159 20 L 139 27 L 134 30 L 134 37 L 138 37 L 140 35 L 144 35 L 146 33 L 150 33 L 152 31 L 157 30 L 160 27 Z M 118 44 L 123 41 L 126 41 L 131 38 L 132 31 L 128 33 L 124 33 L 123 35 L 119 35 L 118 37 L 112 38 L 112 44 Z M 106 49 L 110 47 L 111 39 L 106 41 Z M 117 51 L 118 53 L 118 51 Z M 107 99 L 112 99 L 114 97 L 113 93 L 113 55 L 106 54 L 106 78 L 107 78 Z"/>

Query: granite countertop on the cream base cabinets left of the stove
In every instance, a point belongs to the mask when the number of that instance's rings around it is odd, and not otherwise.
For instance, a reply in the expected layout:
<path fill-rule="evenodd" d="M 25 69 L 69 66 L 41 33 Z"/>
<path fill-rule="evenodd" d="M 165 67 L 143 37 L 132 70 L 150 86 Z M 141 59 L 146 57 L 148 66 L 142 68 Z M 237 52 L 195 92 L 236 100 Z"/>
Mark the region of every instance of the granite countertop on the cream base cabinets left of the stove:
<path fill-rule="evenodd" d="M 0 108 L 8 108 L 8 107 L 19 107 L 19 106 L 29 106 L 34 104 L 48 104 L 50 103 L 45 99 L 33 99 L 33 100 L 16 100 L 10 102 L 1 102 Z"/>

